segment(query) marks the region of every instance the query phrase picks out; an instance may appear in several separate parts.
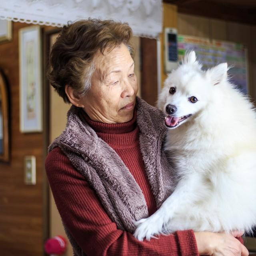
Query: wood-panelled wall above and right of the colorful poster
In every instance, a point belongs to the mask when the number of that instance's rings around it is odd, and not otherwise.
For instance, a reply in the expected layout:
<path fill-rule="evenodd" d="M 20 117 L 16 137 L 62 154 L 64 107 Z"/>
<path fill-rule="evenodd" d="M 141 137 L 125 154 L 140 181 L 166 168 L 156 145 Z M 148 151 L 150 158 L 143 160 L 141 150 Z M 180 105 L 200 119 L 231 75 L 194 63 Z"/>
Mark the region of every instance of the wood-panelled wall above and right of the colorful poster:
<path fill-rule="evenodd" d="M 256 100 L 256 26 L 178 13 L 178 33 L 245 44 L 248 49 L 249 94 Z"/>

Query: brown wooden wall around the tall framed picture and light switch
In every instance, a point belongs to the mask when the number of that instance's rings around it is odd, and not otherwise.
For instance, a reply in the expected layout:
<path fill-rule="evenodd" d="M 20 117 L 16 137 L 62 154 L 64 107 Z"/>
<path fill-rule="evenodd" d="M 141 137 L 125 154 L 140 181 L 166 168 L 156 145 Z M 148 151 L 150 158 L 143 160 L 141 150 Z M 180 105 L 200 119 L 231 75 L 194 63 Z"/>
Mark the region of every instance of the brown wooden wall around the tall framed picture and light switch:
<path fill-rule="evenodd" d="M 43 134 L 19 130 L 18 30 L 12 22 L 11 42 L 0 44 L 0 68 L 10 89 L 10 162 L 0 162 L 0 255 L 43 255 Z M 46 30 L 51 29 L 45 27 Z M 36 156 L 36 185 L 24 184 L 24 156 Z"/>

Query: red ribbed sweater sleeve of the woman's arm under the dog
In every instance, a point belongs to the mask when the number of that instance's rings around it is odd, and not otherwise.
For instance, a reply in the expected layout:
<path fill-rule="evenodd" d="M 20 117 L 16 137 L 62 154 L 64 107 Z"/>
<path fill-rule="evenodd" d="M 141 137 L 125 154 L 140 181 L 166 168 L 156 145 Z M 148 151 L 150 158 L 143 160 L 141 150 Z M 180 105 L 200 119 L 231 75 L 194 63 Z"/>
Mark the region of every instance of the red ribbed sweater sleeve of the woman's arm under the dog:
<path fill-rule="evenodd" d="M 144 242 L 119 230 L 92 187 L 60 148 L 48 154 L 45 167 L 62 221 L 86 255 L 198 255 L 192 230 Z"/>

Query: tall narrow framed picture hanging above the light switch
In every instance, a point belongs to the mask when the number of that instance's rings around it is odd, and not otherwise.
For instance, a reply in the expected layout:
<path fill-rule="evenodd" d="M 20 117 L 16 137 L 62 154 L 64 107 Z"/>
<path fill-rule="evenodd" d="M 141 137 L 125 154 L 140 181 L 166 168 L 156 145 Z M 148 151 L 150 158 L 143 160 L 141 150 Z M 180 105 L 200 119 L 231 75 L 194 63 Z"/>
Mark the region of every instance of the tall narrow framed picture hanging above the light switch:
<path fill-rule="evenodd" d="M 42 132 L 42 45 L 40 26 L 19 30 L 20 131 Z"/>

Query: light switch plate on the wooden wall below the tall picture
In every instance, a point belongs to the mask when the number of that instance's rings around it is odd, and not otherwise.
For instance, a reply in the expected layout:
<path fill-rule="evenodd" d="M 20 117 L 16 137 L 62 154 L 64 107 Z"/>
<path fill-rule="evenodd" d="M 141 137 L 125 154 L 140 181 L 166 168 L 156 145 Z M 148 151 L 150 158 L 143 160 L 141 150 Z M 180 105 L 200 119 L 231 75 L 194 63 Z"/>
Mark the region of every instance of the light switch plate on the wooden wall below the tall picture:
<path fill-rule="evenodd" d="M 24 182 L 26 185 L 36 184 L 36 157 L 25 156 L 24 158 Z"/>

